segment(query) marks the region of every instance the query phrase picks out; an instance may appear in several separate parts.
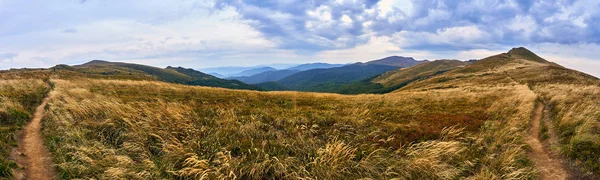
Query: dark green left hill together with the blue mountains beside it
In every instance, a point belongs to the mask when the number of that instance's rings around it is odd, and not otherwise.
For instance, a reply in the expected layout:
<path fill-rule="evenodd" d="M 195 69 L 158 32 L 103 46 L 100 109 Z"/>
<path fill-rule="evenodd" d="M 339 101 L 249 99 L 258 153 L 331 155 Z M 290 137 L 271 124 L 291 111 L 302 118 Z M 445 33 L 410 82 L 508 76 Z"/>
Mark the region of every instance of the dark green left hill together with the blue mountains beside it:
<path fill-rule="evenodd" d="M 260 88 L 259 86 L 262 86 L 267 90 L 348 93 L 355 91 L 349 91 L 348 87 L 359 87 L 359 89 L 364 89 L 365 87 L 375 87 L 368 83 L 375 83 L 371 81 L 388 71 L 411 67 L 427 62 L 429 61 L 418 61 L 412 57 L 390 56 L 365 63 L 354 63 L 347 65 L 309 63 L 297 65 L 284 70 L 276 70 L 272 67 L 256 67 L 244 69 L 238 73 L 240 75 L 248 74 L 249 76 L 230 77 L 227 79 L 220 79 L 214 75 L 183 67 L 169 66 L 163 69 L 139 64 L 109 62 L 102 60 L 94 60 L 73 67 L 92 69 L 96 68 L 96 70 L 102 71 L 101 73 L 103 74 L 118 74 L 116 71 L 110 72 L 111 68 L 115 68 L 120 69 L 123 72 L 135 72 L 143 76 L 154 77 L 165 82 L 187 85 L 250 90 L 261 90 L 263 88 Z M 233 69 L 235 68 L 237 67 L 234 67 Z M 221 75 L 214 72 L 213 74 Z M 365 83 L 367 83 L 367 86 L 363 86 Z M 373 89 L 381 89 L 381 87 L 375 87 Z M 366 92 L 375 91 L 369 90 Z"/>

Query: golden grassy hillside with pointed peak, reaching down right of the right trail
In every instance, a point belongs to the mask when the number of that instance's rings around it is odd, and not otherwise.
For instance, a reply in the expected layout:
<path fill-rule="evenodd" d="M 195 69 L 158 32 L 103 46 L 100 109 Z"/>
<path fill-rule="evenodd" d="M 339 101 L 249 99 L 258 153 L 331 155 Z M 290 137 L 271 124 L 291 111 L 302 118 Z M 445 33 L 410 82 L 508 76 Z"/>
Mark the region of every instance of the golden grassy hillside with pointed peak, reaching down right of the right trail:
<path fill-rule="evenodd" d="M 399 91 L 456 89 L 474 85 L 527 85 L 548 104 L 559 136 L 556 147 L 584 173 L 600 173 L 600 80 L 548 62 L 524 48 L 488 57 Z"/>

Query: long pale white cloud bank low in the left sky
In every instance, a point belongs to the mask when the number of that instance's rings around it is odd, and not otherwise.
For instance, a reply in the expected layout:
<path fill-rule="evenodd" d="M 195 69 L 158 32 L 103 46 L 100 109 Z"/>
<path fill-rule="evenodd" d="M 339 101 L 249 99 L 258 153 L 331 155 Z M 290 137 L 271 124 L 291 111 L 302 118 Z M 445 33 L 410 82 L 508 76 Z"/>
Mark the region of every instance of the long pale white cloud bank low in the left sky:
<path fill-rule="evenodd" d="M 11 36 L 0 36 L 0 50 L 19 52 L 19 56 L 0 68 L 48 67 L 58 63 L 81 63 L 92 59 L 148 61 L 151 65 L 171 65 L 174 61 L 220 63 L 205 57 L 210 52 L 248 53 L 276 49 L 231 9 L 209 13 L 195 11 L 185 17 L 149 24 L 135 19 L 106 19 L 71 26 L 77 33 L 62 33 L 63 28 Z M 195 52 L 195 53 L 194 53 Z M 166 57 L 169 56 L 169 57 Z"/>

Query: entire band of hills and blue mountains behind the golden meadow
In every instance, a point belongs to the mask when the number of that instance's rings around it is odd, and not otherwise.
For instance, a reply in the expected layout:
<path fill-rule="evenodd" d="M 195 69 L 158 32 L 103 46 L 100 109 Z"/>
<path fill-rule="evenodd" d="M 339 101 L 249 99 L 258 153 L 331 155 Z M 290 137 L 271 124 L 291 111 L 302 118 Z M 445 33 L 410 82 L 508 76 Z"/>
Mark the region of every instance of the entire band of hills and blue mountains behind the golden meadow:
<path fill-rule="evenodd" d="M 546 63 L 544 59 L 526 49 L 513 49 L 509 55 Z M 277 70 L 271 67 L 256 67 L 236 72 L 240 77 L 219 78 L 191 68 L 158 68 L 146 65 L 93 60 L 82 65 L 59 65 L 55 68 L 81 72 L 87 76 L 114 78 L 149 79 L 164 82 L 222 87 L 230 89 L 266 91 L 310 91 L 340 94 L 387 93 L 403 88 L 413 82 L 437 77 L 446 72 L 480 71 L 481 68 L 497 65 L 502 59 L 489 61 L 459 60 L 415 60 L 411 57 L 390 56 L 364 63 L 327 64 L 310 63 Z M 475 69 L 474 69 L 475 68 Z M 235 69 L 235 68 L 234 68 Z M 230 69 L 230 72 L 234 72 Z M 241 70 L 241 68 L 237 68 Z M 441 79 L 439 81 L 444 81 Z"/>

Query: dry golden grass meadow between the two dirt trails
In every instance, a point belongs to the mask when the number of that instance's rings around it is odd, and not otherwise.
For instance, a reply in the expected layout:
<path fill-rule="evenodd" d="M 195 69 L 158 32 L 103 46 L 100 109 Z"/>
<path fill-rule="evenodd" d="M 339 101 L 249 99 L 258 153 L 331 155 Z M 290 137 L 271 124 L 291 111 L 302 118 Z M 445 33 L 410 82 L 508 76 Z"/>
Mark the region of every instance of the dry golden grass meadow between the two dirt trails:
<path fill-rule="evenodd" d="M 527 179 L 519 84 L 385 95 L 53 79 L 62 178 Z"/>

